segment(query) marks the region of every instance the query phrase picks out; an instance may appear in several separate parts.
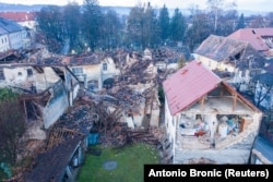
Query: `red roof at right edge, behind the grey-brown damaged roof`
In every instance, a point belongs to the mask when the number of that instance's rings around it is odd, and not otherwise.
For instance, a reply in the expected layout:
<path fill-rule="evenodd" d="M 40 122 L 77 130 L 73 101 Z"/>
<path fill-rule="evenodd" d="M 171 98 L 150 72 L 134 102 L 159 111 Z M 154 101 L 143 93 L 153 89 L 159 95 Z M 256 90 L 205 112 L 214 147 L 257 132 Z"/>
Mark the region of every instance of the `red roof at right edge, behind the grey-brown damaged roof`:
<path fill-rule="evenodd" d="M 272 36 L 273 28 L 244 28 L 230 34 L 228 38 L 248 41 L 256 50 L 265 51 L 270 47 L 263 41 L 262 37 Z"/>

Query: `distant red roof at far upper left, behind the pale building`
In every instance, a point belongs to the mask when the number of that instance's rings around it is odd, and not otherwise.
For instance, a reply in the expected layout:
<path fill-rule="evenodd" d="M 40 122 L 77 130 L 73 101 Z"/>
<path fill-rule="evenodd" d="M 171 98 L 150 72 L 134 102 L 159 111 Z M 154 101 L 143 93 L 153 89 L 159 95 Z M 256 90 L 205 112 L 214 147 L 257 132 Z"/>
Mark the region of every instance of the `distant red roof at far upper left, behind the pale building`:
<path fill-rule="evenodd" d="M 34 12 L 0 12 L 0 17 L 9 19 L 14 22 L 35 21 Z"/>

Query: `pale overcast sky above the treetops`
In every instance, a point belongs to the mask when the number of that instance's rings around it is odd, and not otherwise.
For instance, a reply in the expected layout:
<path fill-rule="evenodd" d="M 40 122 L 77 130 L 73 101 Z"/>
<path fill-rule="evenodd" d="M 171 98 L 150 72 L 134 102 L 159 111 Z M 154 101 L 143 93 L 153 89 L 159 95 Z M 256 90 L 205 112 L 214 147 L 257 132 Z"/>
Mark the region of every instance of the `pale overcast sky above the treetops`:
<path fill-rule="evenodd" d="M 75 1 L 82 4 L 83 0 L 0 0 L 7 3 L 21 4 L 67 4 L 69 1 Z M 225 0 L 226 2 L 230 0 Z M 273 11 L 273 0 L 236 0 L 238 10 L 252 11 Z M 166 4 L 167 8 L 188 9 L 193 4 L 198 4 L 200 9 L 205 8 L 206 0 L 98 0 L 99 5 L 120 5 L 134 7 L 139 2 L 151 2 L 153 8 L 162 8 Z"/>

